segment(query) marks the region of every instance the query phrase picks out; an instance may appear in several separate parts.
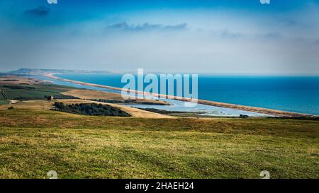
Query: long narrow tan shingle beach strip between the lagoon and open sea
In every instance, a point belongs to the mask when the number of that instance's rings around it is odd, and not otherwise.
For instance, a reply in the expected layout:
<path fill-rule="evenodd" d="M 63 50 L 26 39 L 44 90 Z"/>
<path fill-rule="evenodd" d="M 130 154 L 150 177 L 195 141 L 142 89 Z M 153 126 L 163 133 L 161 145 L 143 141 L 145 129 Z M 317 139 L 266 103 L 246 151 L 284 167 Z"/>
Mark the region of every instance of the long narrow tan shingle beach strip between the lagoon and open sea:
<path fill-rule="evenodd" d="M 118 91 L 130 91 L 135 94 L 144 94 L 144 95 L 152 95 L 158 98 L 168 98 L 172 100 L 181 100 L 184 102 L 191 102 L 191 98 L 182 98 L 182 97 L 177 97 L 177 96 L 172 96 L 172 95 L 162 95 L 162 94 L 155 94 L 155 93 L 147 93 L 147 92 L 142 92 L 140 90 L 126 90 L 123 88 L 117 88 L 113 86 L 103 86 L 99 84 L 94 84 L 94 83 L 85 83 L 82 81 L 72 81 L 69 79 L 65 78 L 59 78 L 55 76 L 55 74 L 43 74 L 43 76 L 47 78 L 52 78 L 56 79 L 59 81 L 66 81 L 69 83 L 77 83 L 82 86 L 92 86 L 92 87 L 97 87 L 97 88 L 106 88 L 110 90 L 118 90 Z M 211 105 L 215 107 L 225 107 L 233 110 L 244 110 L 248 112 L 257 112 L 257 113 L 262 113 L 262 114 L 267 114 L 267 115 L 272 115 L 272 116 L 277 116 L 277 117 L 315 117 L 315 115 L 308 115 L 308 114 L 303 114 L 303 113 L 298 113 L 298 112 L 288 112 L 288 111 L 282 111 L 282 110 L 272 110 L 272 109 L 267 109 L 267 108 L 262 108 L 262 107 L 250 107 L 250 106 L 245 106 L 245 105 L 235 105 L 235 104 L 230 104 L 230 103 L 220 103 L 220 102 L 215 102 L 211 100 L 197 100 L 198 104 L 202 105 Z"/>

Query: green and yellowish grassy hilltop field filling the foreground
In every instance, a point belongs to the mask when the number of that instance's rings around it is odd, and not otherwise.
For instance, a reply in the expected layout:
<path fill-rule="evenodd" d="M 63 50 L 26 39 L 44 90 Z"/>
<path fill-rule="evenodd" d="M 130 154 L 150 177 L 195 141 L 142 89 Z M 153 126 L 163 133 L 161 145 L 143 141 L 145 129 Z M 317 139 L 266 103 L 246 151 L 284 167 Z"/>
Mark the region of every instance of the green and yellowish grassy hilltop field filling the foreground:
<path fill-rule="evenodd" d="M 319 178 L 319 122 L 0 111 L 0 178 Z"/>

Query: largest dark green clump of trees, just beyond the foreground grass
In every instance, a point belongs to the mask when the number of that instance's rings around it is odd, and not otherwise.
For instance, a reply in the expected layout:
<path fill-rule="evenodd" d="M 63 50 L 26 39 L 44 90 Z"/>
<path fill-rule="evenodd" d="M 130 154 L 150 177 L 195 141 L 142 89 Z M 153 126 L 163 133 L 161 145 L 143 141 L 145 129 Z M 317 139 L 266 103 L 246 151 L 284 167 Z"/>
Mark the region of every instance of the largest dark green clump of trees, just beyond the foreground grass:
<path fill-rule="evenodd" d="M 65 105 L 64 103 L 55 102 L 55 110 L 79 114 L 79 115 L 130 117 L 128 113 L 116 107 L 111 107 L 109 105 L 101 105 L 96 103 L 81 103 L 81 104 Z"/>

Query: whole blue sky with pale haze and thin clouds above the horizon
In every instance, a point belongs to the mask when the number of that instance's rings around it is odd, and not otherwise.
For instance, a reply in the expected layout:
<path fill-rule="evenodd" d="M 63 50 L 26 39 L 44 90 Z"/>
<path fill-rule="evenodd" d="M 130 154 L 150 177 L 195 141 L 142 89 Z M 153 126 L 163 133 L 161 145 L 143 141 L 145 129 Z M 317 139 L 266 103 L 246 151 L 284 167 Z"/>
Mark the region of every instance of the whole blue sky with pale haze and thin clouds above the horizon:
<path fill-rule="evenodd" d="M 0 71 L 319 74 L 315 0 L 0 0 Z"/>

